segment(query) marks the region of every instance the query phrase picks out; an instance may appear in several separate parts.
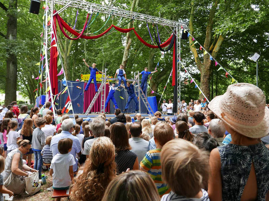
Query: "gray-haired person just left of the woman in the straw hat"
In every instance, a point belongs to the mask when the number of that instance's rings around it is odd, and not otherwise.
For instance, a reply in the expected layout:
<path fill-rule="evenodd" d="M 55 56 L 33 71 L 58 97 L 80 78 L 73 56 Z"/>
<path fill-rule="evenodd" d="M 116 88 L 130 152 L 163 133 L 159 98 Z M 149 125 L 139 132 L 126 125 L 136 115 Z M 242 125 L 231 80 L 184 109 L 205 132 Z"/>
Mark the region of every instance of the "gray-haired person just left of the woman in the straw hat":
<path fill-rule="evenodd" d="M 212 119 L 209 123 L 208 133 L 211 134 L 220 145 L 222 144 L 225 127 L 221 124 L 220 119 Z"/>

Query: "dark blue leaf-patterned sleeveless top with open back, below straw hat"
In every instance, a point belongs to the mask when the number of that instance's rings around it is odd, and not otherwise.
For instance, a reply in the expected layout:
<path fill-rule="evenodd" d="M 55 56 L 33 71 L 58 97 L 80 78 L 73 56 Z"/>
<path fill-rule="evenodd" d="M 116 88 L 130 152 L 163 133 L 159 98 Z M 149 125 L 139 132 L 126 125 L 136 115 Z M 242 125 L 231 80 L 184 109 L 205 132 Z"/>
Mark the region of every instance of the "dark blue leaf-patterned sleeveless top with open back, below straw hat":
<path fill-rule="evenodd" d="M 269 190 L 269 150 L 261 143 L 249 146 L 228 144 L 218 147 L 221 159 L 222 201 L 241 200 L 251 163 L 257 179 L 257 201 Z"/>

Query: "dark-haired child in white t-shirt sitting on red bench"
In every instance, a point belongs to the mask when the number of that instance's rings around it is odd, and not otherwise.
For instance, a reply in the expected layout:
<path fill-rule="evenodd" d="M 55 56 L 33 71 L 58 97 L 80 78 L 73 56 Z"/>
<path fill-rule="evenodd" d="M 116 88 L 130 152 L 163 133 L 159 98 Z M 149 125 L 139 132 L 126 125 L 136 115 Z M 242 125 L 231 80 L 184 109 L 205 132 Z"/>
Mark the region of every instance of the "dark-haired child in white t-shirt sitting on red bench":
<path fill-rule="evenodd" d="M 49 175 L 52 176 L 53 189 L 68 189 L 74 178 L 73 165 L 76 164 L 74 156 L 68 154 L 72 150 L 73 140 L 63 138 L 58 142 L 60 154 L 56 154 L 51 161 Z M 59 201 L 61 198 L 56 198 Z"/>

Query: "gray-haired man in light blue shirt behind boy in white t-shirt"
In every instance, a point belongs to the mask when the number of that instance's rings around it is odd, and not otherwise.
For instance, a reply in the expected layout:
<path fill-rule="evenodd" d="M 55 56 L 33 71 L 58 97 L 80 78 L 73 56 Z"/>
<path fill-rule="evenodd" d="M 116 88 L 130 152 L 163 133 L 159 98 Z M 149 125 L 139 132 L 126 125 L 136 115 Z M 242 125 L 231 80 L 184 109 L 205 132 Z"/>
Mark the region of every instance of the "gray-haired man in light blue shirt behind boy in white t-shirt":
<path fill-rule="evenodd" d="M 63 138 L 72 139 L 73 140 L 72 150 L 69 152 L 69 154 L 72 154 L 74 156 L 76 164 L 73 165 L 73 171 L 75 172 L 77 171 L 77 161 L 78 161 L 76 159 L 76 154 L 78 156 L 81 155 L 79 138 L 71 134 L 74 131 L 74 123 L 72 119 L 63 120 L 61 127 L 62 132 L 53 136 L 51 139 L 50 150 L 52 152 L 52 156 L 60 154 L 58 151 L 58 142 Z"/>

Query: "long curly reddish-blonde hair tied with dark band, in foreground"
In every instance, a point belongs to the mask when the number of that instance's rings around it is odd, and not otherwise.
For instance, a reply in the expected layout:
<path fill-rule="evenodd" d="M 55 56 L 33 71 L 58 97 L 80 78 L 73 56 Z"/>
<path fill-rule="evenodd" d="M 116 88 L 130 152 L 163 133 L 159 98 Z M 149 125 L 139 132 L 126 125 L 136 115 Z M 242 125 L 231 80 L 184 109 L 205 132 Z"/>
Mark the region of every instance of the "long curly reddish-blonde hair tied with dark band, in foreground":
<path fill-rule="evenodd" d="M 93 142 L 83 172 L 74 178 L 70 189 L 73 201 L 102 200 L 105 190 L 116 177 L 115 147 L 108 137 Z"/>

